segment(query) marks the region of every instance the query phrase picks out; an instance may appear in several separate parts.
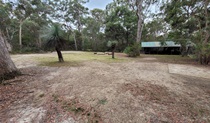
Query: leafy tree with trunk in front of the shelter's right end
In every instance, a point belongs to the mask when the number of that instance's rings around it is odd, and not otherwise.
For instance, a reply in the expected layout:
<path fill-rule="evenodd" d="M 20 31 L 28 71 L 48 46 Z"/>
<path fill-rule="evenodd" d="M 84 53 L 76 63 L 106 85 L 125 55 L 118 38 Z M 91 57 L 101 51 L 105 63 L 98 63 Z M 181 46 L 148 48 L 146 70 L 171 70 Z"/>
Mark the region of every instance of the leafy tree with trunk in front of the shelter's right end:
<path fill-rule="evenodd" d="M 170 24 L 172 31 L 170 38 L 181 44 L 182 54 L 187 51 L 186 45 L 191 34 L 197 30 L 192 14 L 196 12 L 195 1 L 171 1 L 162 7 L 164 8 L 165 21 Z"/>

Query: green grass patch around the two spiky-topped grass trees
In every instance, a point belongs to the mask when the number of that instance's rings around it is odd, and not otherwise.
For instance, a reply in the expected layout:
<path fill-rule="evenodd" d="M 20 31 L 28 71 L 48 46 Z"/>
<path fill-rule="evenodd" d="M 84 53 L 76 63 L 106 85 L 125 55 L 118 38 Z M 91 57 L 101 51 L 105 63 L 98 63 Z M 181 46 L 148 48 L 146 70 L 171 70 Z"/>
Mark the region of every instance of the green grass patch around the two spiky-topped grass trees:
<path fill-rule="evenodd" d="M 86 61 L 99 61 L 105 63 L 125 62 L 127 58 L 117 57 L 112 59 L 110 55 L 97 55 L 93 52 L 63 53 L 63 63 L 58 62 L 57 54 L 53 53 L 49 56 L 37 56 L 35 59 L 41 66 L 62 67 L 62 66 L 81 66 Z"/>

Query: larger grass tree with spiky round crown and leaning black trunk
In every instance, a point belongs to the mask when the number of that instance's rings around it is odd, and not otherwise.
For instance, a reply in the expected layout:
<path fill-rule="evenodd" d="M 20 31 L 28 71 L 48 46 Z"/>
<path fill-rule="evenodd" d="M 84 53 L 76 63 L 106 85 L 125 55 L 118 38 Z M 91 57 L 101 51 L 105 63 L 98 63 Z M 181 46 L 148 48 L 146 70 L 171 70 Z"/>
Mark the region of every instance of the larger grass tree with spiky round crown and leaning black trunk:
<path fill-rule="evenodd" d="M 64 62 L 61 48 L 65 45 L 65 39 L 62 37 L 63 31 L 61 29 L 61 26 L 58 24 L 53 24 L 50 27 L 45 26 L 40 32 L 41 38 L 44 38 L 44 40 L 46 41 L 45 47 L 55 48 L 58 54 L 59 62 Z"/>

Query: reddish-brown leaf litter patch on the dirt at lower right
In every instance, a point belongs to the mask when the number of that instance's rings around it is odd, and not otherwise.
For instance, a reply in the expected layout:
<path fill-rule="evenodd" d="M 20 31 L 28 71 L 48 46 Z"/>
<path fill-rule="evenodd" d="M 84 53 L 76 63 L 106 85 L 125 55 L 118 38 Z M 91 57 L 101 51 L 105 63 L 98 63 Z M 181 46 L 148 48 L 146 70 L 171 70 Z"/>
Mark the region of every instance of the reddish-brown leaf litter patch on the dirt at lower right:
<path fill-rule="evenodd" d="M 157 112 L 150 117 L 150 122 L 189 122 L 190 119 L 201 122 L 204 121 L 201 118 L 209 116 L 208 109 L 182 95 L 170 92 L 164 86 L 154 84 L 139 86 L 138 83 L 129 83 L 121 88 L 122 92 L 129 91 L 134 97 L 141 96 L 146 103 L 152 105 Z M 163 110 L 163 107 L 167 110 Z"/>

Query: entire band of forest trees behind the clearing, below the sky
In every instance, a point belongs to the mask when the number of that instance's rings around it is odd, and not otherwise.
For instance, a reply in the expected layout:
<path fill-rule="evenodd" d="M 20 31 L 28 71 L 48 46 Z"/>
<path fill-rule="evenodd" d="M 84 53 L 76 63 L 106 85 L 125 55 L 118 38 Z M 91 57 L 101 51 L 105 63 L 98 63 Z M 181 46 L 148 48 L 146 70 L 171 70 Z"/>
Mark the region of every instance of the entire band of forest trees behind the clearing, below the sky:
<path fill-rule="evenodd" d="M 188 50 L 187 43 L 193 42 L 201 63 L 209 55 L 208 0 L 114 0 L 105 10 L 89 10 L 87 2 L 1 0 L 1 30 L 15 52 L 44 50 L 40 30 L 59 23 L 68 50 L 107 51 L 107 42 L 115 40 L 116 51 L 122 52 L 142 41 L 173 40 L 182 45 L 183 53 Z M 158 12 L 152 12 L 154 7 Z"/>

